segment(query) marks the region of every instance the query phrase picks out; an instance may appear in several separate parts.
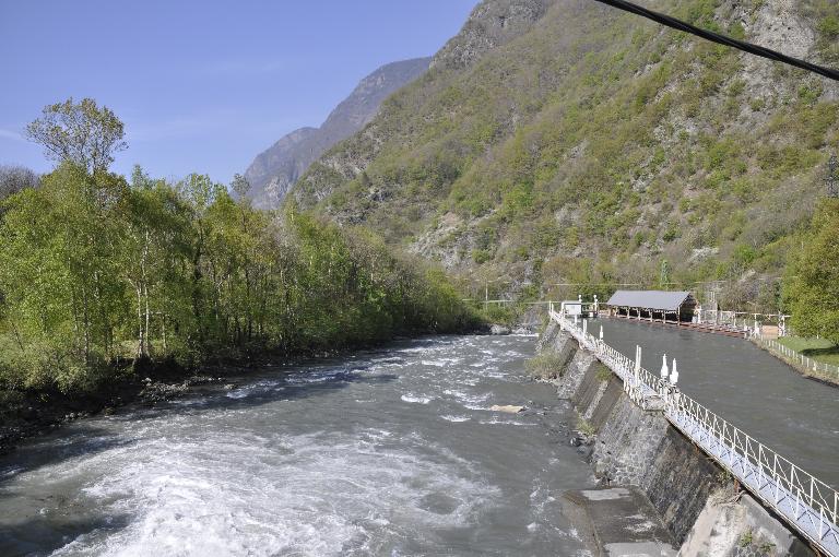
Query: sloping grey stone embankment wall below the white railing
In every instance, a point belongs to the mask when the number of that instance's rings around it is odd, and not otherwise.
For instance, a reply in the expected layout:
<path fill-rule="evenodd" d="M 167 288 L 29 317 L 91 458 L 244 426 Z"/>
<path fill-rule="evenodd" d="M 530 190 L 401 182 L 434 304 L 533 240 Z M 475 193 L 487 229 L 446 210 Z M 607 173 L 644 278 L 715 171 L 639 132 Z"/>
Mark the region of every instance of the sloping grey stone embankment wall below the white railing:
<path fill-rule="evenodd" d="M 550 381 L 574 404 L 595 441 L 590 462 L 603 485 L 639 489 L 681 547 L 680 556 L 811 556 L 814 553 L 660 412 L 643 411 L 621 379 L 551 322 L 539 341 L 555 366 Z M 616 513 L 624 512 L 615 509 Z M 596 520 L 589 515 L 588 528 Z M 594 532 L 594 540 L 607 537 Z M 616 547 L 613 545 L 613 547 Z M 599 543 L 601 555 L 623 555 Z M 645 555 L 641 553 L 640 555 Z M 652 554 L 650 554 L 652 555 Z"/>

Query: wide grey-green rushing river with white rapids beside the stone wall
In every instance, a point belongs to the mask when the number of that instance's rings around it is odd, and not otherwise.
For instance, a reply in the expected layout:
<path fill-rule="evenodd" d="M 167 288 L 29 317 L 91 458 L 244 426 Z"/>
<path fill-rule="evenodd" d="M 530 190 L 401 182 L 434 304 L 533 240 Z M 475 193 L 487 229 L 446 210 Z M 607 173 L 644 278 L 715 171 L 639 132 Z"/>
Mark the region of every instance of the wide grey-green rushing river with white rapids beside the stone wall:
<path fill-rule="evenodd" d="M 595 482 L 534 345 L 403 341 L 75 422 L 0 461 L 0 555 L 587 555 L 559 497 Z"/>

